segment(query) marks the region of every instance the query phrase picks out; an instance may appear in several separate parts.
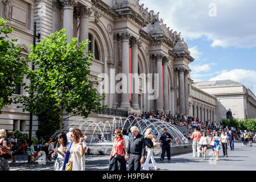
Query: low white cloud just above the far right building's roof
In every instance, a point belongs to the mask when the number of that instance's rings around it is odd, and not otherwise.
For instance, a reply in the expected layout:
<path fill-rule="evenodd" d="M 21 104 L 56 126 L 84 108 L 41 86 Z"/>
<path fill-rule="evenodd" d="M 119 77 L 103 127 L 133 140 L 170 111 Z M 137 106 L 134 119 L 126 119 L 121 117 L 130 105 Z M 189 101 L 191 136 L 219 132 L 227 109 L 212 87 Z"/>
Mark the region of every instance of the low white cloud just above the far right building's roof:
<path fill-rule="evenodd" d="M 216 77 L 210 78 L 213 80 L 233 80 L 240 82 L 249 88 L 256 95 L 256 72 L 247 69 L 232 69 L 230 71 L 223 70 Z"/>

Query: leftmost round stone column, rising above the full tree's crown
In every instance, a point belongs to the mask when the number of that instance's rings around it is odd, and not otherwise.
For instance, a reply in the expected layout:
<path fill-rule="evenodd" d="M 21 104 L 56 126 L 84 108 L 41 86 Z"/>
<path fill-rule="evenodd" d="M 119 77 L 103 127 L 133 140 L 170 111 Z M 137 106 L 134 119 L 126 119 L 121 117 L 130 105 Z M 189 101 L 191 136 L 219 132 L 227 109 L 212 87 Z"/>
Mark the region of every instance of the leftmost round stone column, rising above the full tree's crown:
<path fill-rule="evenodd" d="M 73 10 L 75 6 L 74 0 L 63 0 L 63 28 L 66 30 L 67 41 L 71 42 L 73 38 Z"/>

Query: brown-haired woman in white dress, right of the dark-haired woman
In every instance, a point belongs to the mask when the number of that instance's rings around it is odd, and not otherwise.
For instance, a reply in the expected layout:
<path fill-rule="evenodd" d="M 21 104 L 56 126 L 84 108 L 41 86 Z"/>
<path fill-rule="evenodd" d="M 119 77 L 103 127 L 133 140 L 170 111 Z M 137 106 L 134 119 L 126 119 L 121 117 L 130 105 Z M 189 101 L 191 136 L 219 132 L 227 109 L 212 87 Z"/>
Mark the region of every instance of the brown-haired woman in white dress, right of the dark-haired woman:
<path fill-rule="evenodd" d="M 72 163 L 72 171 L 85 171 L 86 138 L 79 129 L 71 131 L 72 143 L 69 150 L 69 162 Z"/>

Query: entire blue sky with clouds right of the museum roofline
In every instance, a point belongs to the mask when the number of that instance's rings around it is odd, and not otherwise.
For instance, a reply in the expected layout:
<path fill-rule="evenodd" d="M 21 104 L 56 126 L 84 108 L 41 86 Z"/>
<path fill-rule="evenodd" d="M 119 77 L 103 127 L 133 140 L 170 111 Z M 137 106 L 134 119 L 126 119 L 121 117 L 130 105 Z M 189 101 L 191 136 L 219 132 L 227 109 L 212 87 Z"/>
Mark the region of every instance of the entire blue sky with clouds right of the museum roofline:
<path fill-rule="evenodd" d="M 233 80 L 256 95 L 255 0 L 140 0 L 181 38 L 196 81 Z"/>

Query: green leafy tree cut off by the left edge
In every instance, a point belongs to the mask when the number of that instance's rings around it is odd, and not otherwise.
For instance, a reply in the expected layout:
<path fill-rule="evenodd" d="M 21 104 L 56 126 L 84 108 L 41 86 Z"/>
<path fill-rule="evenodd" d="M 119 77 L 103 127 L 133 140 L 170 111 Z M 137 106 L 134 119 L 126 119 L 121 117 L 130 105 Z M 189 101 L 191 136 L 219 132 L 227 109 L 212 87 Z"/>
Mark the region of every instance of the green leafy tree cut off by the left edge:
<path fill-rule="evenodd" d="M 9 39 L 8 34 L 13 29 L 7 27 L 7 22 L 0 19 L 0 114 L 2 108 L 14 102 L 11 95 L 15 86 L 22 83 L 24 74 L 28 71 L 27 60 L 22 58 L 21 48 L 14 45 L 17 39 Z"/>

